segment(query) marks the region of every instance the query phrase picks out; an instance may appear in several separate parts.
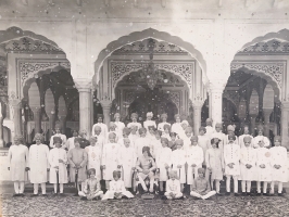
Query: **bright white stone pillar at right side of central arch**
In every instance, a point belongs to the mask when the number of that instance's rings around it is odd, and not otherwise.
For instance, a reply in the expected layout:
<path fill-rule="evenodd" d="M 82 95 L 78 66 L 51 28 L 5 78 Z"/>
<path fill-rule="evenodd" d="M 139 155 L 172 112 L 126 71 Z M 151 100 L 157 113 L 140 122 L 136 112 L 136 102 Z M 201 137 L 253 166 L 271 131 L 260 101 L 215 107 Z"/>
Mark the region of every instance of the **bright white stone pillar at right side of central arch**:
<path fill-rule="evenodd" d="M 210 87 L 210 111 L 211 118 L 213 118 L 213 127 L 216 123 L 222 123 L 222 110 L 223 110 L 223 86 Z"/>

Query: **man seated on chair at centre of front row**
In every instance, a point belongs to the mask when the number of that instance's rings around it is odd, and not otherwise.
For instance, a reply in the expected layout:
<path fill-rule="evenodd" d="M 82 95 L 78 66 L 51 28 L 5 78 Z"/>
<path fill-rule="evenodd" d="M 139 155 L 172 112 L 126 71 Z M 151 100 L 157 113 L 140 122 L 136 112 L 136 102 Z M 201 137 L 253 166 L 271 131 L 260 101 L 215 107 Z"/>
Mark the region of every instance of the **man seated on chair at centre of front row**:
<path fill-rule="evenodd" d="M 150 180 L 150 192 L 153 192 L 153 186 L 154 186 L 154 174 L 153 171 L 156 169 L 156 165 L 154 163 L 154 159 L 151 156 L 150 148 L 143 146 L 142 148 L 142 156 L 140 156 L 137 161 L 136 169 L 138 170 L 138 179 L 142 187 L 141 190 L 144 192 L 148 192 L 147 184 L 144 183 L 146 178 L 148 177 Z"/>

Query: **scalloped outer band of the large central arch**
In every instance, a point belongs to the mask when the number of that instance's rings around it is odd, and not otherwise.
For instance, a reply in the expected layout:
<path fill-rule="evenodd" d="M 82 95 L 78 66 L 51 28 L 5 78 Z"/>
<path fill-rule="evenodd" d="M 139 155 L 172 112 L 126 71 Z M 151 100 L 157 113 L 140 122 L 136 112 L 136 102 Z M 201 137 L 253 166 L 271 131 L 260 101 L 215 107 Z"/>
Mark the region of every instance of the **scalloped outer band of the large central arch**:
<path fill-rule="evenodd" d="M 162 40 L 166 41 L 173 44 L 176 44 L 177 47 L 186 50 L 189 54 L 191 54 L 200 64 L 200 67 L 202 68 L 202 75 L 203 75 L 203 81 L 208 81 L 206 77 L 206 64 L 205 61 L 201 54 L 200 51 L 198 51 L 191 43 L 184 41 L 181 38 L 177 36 L 172 36 L 168 33 L 165 31 L 159 31 L 153 28 L 148 28 L 142 31 L 135 31 L 127 36 L 123 36 L 118 38 L 115 41 L 112 41 L 106 46 L 105 49 L 103 49 L 95 63 L 95 76 L 93 76 L 93 84 L 97 86 L 99 82 L 99 73 L 101 71 L 101 66 L 104 62 L 104 60 L 110 56 L 115 50 L 121 49 L 122 47 L 133 43 L 135 41 L 143 40 L 146 38 L 153 38 L 155 40 Z"/>

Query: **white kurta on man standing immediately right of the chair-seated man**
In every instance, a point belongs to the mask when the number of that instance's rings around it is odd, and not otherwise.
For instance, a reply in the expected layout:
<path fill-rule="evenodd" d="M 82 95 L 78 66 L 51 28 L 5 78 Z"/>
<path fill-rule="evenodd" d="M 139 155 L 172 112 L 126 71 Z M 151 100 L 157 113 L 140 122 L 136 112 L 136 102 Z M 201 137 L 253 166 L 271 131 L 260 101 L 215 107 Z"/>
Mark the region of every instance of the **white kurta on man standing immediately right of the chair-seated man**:
<path fill-rule="evenodd" d="M 160 148 L 155 157 L 156 167 L 160 169 L 160 181 L 166 181 L 168 179 L 167 171 L 172 166 L 172 150 L 167 146 Z M 165 168 L 165 164 L 168 165 L 168 169 Z"/>

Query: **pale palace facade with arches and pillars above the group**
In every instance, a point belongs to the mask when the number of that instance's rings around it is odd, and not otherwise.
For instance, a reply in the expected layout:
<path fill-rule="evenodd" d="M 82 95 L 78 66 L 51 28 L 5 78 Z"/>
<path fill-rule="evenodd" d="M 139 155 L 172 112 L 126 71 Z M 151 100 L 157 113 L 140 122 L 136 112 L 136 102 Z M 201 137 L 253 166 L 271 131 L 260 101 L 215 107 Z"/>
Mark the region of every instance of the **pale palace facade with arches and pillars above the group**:
<path fill-rule="evenodd" d="M 0 3 L 0 145 L 55 123 L 179 113 L 265 127 L 289 145 L 286 0 L 21 0 Z"/>

